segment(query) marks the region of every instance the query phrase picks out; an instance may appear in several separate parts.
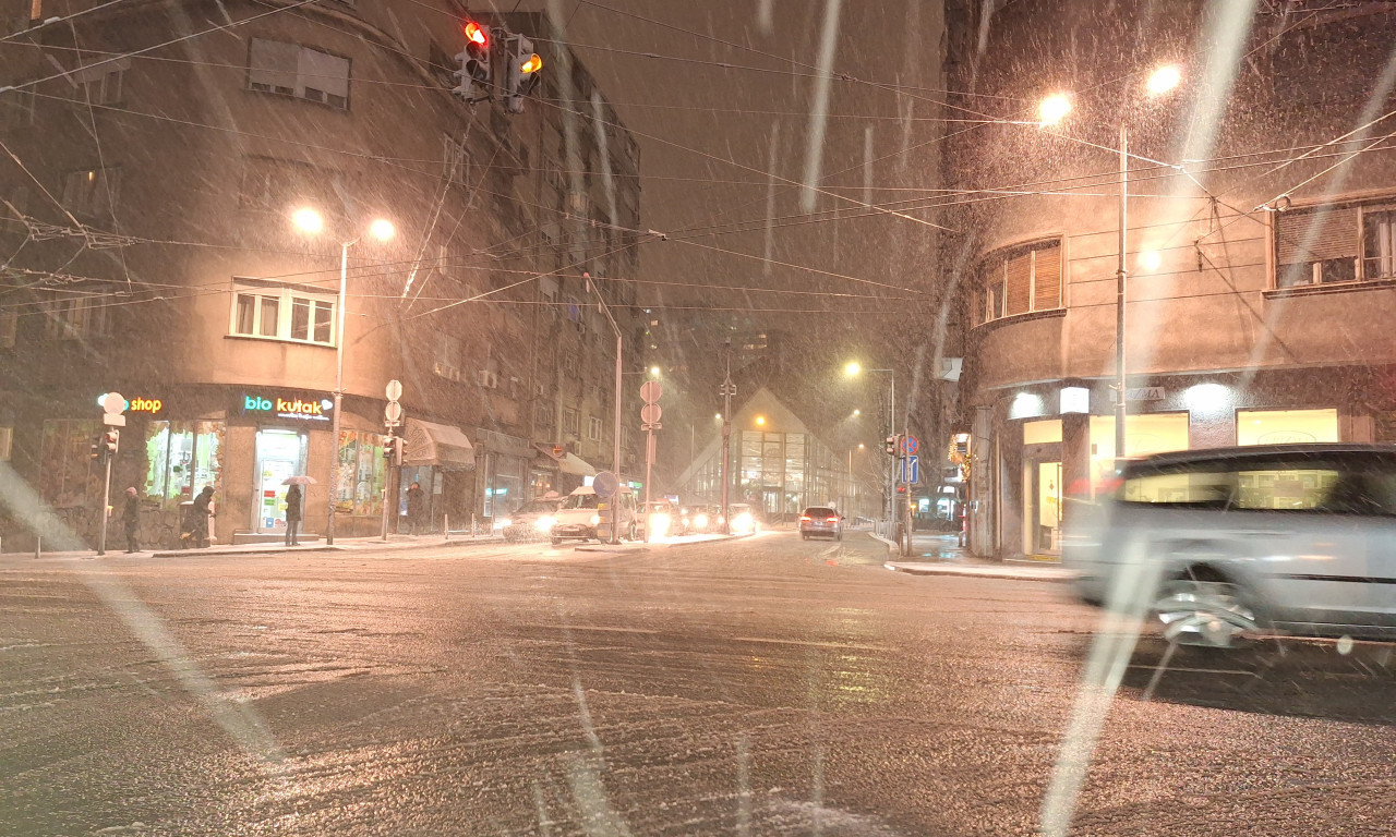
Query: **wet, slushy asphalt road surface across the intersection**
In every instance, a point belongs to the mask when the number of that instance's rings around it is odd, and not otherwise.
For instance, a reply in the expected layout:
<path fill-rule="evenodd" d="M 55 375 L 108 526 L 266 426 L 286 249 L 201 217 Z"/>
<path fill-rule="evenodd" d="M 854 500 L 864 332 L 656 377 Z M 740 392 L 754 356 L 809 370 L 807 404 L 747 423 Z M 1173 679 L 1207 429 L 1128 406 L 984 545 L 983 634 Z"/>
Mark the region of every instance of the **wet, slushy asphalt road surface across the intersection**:
<path fill-rule="evenodd" d="M 0 834 L 1033 834 L 1096 617 L 769 533 L 0 561 Z M 1074 834 L 1396 834 L 1390 646 L 1145 646 Z"/>

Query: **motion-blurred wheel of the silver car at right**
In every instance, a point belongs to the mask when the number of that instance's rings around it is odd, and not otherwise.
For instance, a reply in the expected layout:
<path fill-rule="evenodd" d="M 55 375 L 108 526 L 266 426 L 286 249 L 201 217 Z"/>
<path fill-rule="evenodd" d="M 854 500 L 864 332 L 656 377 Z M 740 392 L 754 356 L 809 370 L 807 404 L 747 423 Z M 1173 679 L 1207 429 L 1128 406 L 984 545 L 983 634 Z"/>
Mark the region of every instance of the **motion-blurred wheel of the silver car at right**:
<path fill-rule="evenodd" d="M 1189 571 L 1166 582 L 1152 614 L 1164 639 L 1187 646 L 1228 649 L 1259 631 L 1241 587 L 1215 571 Z"/>

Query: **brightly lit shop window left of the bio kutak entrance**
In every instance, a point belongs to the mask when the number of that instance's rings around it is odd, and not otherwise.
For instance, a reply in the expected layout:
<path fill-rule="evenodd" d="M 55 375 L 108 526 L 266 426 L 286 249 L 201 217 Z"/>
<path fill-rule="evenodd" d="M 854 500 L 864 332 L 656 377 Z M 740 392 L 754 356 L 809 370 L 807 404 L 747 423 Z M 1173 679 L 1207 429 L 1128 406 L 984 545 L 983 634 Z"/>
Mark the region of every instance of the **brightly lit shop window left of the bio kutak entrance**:
<path fill-rule="evenodd" d="M 222 485 L 222 421 L 151 421 L 145 425 L 147 501 L 174 508 L 204 485 Z"/>

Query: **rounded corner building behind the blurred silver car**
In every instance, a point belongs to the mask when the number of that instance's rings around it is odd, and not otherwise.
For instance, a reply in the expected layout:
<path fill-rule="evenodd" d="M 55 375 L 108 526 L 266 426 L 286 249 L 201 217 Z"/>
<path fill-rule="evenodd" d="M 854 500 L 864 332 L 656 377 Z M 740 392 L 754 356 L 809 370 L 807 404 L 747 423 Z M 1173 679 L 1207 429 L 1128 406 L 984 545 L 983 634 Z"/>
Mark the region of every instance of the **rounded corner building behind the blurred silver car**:
<path fill-rule="evenodd" d="M 1002 110 L 948 151 L 966 190 L 951 226 L 970 230 L 945 264 L 976 554 L 1057 558 L 1117 453 L 1396 441 L 1396 166 L 1374 145 L 1393 127 L 1388 7 L 1234 20 L 1230 4 L 1029 0 L 987 21 L 952 7 L 953 102 Z M 1182 82 L 1150 98 L 1163 63 Z M 1078 91 L 1067 119 L 1023 124 L 1057 91 Z M 1304 485 L 1276 502 L 1286 491 Z"/>

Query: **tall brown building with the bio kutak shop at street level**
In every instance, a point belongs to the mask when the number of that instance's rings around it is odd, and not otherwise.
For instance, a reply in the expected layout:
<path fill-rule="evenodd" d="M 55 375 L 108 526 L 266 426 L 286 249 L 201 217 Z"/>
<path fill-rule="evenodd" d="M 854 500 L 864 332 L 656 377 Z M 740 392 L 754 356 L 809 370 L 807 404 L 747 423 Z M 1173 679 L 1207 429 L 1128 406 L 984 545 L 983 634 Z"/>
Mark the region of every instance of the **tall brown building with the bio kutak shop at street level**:
<path fill-rule="evenodd" d="M 138 488 L 147 543 L 204 485 L 226 543 L 281 531 L 296 474 L 315 480 L 307 531 L 334 509 L 371 534 L 412 483 L 459 529 L 634 472 L 628 428 L 613 462 L 611 381 L 616 332 L 638 364 L 644 331 L 639 152 L 546 15 L 91 3 L 57 27 L 84 4 L 32 6 L 0 45 L 0 460 L 49 513 L 91 538 L 113 391 L 113 495 Z M 524 113 L 452 95 L 466 20 L 535 40 Z M 307 208 L 317 234 L 292 223 Z M 3 529 L 32 548 L 24 520 Z"/>

